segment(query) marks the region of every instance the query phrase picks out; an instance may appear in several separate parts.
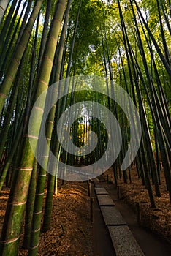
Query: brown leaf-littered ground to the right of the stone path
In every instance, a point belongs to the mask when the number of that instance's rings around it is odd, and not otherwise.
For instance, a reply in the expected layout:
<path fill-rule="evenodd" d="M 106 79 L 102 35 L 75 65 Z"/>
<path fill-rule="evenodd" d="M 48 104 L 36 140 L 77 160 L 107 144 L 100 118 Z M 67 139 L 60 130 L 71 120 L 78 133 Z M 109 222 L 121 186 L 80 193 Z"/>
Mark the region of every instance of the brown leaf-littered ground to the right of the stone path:
<path fill-rule="evenodd" d="M 109 183 L 113 183 L 112 168 L 107 170 L 102 177 L 107 180 L 107 175 Z M 136 212 L 136 203 L 140 203 L 141 226 L 152 230 L 171 244 L 171 206 L 164 172 L 161 171 L 161 197 L 154 196 L 156 208 L 151 208 L 148 191 L 142 185 L 140 178 L 138 178 L 135 167 L 131 170 L 131 177 L 132 183 L 129 182 L 129 177 L 128 184 L 124 184 L 123 178 L 118 181 L 118 185 L 121 186 L 121 200 L 125 200 L 134 212 Z M 153 195 L 155 195 L 154 187 Z"/>

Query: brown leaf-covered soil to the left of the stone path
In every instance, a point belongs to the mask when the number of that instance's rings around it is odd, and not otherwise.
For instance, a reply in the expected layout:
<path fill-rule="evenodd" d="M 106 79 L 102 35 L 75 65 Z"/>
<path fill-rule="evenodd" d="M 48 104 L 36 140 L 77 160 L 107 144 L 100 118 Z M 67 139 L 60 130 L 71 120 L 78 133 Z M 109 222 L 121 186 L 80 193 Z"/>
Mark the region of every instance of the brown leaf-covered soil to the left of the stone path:
<path fill-rule="evenodd" d="M 3 224 L 9 189 L 0 195 L 0 229 Z M 18 255 L 27 255 L 22 249 L 23 235 L 20 238 Z M 53 196 L 51 229 L 41 233 L 39 256 L 42 255 L 93 255 L 92 223 L 90 220 L 90 198 L 86 182 L 66 182 Z"/>

